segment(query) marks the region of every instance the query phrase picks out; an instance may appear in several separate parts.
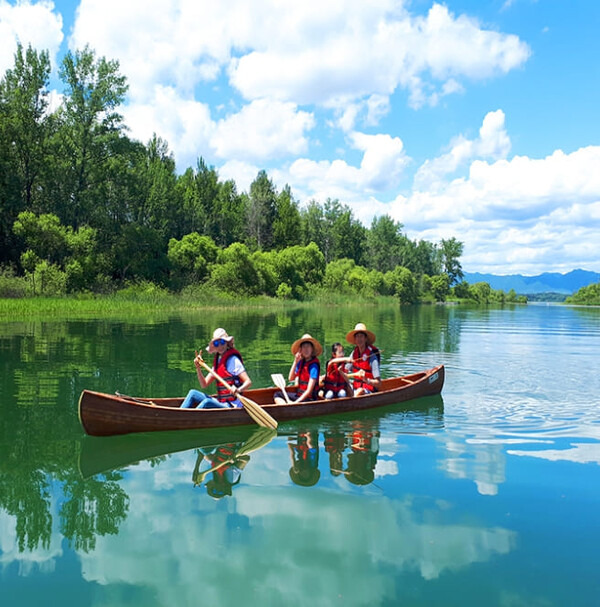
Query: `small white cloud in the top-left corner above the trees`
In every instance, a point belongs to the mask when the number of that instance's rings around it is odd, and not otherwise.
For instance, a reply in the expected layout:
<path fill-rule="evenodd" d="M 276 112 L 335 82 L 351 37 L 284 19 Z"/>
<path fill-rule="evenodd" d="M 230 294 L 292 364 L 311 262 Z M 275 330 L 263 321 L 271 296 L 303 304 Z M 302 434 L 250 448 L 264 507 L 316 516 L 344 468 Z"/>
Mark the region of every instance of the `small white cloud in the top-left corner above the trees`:
<path fill-rule="evenodd" d="M 63 40 L 62 17 L 54 12 L 54 3 L 42 0 L 35 4 L 9 4 L 0 0 L 0 78 L 14 66 L 17 43 L 47 50 L 53 69 Z"/>

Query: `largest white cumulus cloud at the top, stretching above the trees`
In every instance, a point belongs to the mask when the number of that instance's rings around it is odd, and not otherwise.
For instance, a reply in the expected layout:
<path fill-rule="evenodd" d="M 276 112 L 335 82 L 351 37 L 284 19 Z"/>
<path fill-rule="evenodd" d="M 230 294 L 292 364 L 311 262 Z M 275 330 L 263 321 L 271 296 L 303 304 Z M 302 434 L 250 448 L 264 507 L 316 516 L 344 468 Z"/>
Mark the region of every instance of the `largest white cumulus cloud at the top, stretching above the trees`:
<path fill-rule="evenodd" d="M 358 120 L 376 126 L 397 88 L 409 91 L 415 106 L 433 103 L 461 91 L 461 78 L 503 73 L 529 56 L 515 36 L 441 5 L 414 16 L 392 0 L 264 0 L 251 7 L 242 0 L 82 0 L 70 46 L 85 44 L 119 60 L 131 105 L 154 104 L 157 87 L 167 87 L 170 112 L 189 116 L 193 101 L 211 98 L 207 87 L 236 89 L 247 105 L 229 109 L 211 126 L 214 139 L 198 145 L 225 161 L 253 163 L 305 153 L 313 127 L 305 105 L 332 111 L 332 124 L 350 133 Z M 283 128 L 274 128 L 282 119 Z M 188 158 L 188 130 L 170 140 L 180 158 Z M 134 136 L 142 131 L 132 126 Z"/>

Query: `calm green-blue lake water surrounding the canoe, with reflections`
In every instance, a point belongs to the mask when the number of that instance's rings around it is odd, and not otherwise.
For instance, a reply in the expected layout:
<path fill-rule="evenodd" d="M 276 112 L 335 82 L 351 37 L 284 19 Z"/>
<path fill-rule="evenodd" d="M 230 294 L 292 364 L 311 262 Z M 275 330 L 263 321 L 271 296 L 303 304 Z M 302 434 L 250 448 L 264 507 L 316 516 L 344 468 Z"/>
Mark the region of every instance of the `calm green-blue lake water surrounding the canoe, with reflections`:
<path fill-rule="evenodd" d="M 275 437 L 81 431 L 84 388 L 195 386 L 216 326 L 262 386 L 356 322 L 384 376 L 444 363 L 441 397 Z M 600 309 L 545 305 L 0 324 L 2 604 L 598 605 L 599 361 Z"/>

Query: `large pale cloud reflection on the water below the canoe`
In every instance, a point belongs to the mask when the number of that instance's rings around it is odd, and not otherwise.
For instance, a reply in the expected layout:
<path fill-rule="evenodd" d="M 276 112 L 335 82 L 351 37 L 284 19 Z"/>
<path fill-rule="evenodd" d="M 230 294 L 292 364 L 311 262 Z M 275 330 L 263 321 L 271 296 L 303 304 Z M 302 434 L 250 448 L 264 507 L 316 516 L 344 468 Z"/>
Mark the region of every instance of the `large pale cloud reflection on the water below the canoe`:
<path fill-rule="evenodd" d="M 166 464 L 176 476 L 183 457 Z M 131 508 L 119 535 L 80 553 L 85 579 L 143 586 L 160 604 L 237 604 L 249 585 L 256 604 L 304 601 L 307 591 L 312 604 L 325 604 L 323 590 L 372 604 L 395 596 L 390 571 L 432 580 L 516 543 L 507 529 L 446 524 L 433 500 L 423 520 L 421 504 L 409 499 L 307 493 L 277 476 L 280 486 L 241 485 L 214 501 L 192 488 L 156 491 L 152 472 L 139 470 L 124 481 Z"/>

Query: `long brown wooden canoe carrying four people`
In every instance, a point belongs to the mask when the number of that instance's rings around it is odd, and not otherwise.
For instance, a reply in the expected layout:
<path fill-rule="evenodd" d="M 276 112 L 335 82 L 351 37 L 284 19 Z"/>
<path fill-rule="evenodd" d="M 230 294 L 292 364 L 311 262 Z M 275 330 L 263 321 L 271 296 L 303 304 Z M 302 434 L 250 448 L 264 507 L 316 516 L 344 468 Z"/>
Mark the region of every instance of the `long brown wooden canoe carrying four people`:
<path fill-rule="evenodd" d="M 347 396 L 298 404 L 273 402 L 277 388 L 247 390 L 244 394 L 263 406 L 278 422 L 305 417 L 363 411 L 423 396 L 439 394 L 444 385 L 444 366 L 382 380 L 374 394 Z M 79 398 L 79 420 L 90 436 L 112 436 L 131 432 L 191 430 L 245 426 L 254 420 L 245 409 L 180 409 L 182 397 L 141 398 L 84 390 Z"/>

